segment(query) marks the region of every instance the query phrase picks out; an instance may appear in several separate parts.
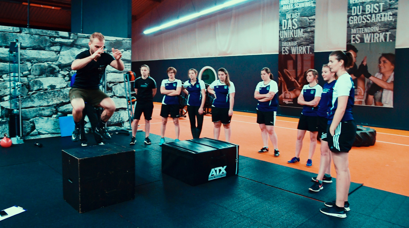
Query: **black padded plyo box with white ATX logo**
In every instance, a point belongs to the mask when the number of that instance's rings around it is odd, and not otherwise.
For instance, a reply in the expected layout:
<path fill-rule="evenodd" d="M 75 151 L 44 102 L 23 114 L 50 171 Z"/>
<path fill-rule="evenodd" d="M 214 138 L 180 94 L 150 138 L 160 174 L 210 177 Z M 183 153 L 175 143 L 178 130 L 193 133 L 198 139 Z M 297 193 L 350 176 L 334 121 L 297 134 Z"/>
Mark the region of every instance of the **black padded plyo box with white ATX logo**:
<path fill-rule="evenodd" d="M 162 145 L 162 172 L 191 186 L 238 174 L 238 145 L 201 138 Z"/>

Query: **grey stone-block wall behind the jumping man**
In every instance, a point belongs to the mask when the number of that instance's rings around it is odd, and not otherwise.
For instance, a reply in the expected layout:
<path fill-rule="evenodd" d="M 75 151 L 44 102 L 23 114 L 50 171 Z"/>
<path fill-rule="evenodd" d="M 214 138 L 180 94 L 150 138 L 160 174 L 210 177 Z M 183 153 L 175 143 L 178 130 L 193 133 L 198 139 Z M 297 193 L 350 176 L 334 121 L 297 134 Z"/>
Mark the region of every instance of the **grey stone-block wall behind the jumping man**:
<path fill-rule="evenodd" d="M 88 49 L 88 34 L 0 26 L 0 135 L 9 133 L 10 88 L 9 45 L 21 42 L 22 120 L 25 139 L 60 135 L 58 117 L 72 113 L 68 92 L 75 71 L 71 63 Z M 108 53 L 111 47 L 122 51 L 123 72 L 131 69 L 131 39 L 105 37 Z M 108 122 L 110 130 L 128 127 L 128 112 L 123 72 L 108 66 L 107 94 L 117 110 Z M 88 122 L 88 118 L 86 118 Z M 90 124 L 85 125 L 89 131 Z"/>

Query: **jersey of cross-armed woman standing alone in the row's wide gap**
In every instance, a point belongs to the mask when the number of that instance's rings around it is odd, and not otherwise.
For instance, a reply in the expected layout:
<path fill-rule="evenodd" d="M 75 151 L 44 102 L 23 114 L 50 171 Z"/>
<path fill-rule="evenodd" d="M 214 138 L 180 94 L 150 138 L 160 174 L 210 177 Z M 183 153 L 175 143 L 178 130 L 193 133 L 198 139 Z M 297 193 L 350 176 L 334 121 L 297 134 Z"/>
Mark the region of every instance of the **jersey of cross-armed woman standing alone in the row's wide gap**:
<path fill-rule="evenodd" d="M 277 93 L 279 92 L 279 87 L 274 80 L 270 80 L 267 85 L 264 85 L 264 81 L 259 82 L 256 86 L 256 91 L 260 94 L 268 94 L 269 92 L 275 93 L 274 98 L 270 101 L 258 101 L 257 110 L 262 112 L 277 111 L 277 106 L 279 104 L 279 96 Z"/>

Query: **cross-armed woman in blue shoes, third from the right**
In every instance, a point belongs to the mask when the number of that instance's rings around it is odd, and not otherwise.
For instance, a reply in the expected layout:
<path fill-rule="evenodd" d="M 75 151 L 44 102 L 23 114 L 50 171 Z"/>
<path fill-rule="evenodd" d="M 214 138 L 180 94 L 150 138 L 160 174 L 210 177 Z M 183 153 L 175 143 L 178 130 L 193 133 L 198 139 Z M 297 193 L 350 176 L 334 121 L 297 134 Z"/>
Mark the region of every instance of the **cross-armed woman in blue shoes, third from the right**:
<path fill-rule="evenodd" d="M 312 155 L 314 155 L 317 146 L 317 106 L 321 99 L 322 87 L 318 85 L 318 72 L 315 69 L 309 69 L 306 72 L 308 85 L 304 85 L 301 94 L 297 99 L 300 105 L 303 105 L 303 111 L 298 122 L 297 142 L 295 143 L 295 157 L 288 163 L 297 163 L 300 161 L 301 148 L 306 131 L 310 131 L 310 152 L 308 154 L 307 167 L 312 166 Z"/>

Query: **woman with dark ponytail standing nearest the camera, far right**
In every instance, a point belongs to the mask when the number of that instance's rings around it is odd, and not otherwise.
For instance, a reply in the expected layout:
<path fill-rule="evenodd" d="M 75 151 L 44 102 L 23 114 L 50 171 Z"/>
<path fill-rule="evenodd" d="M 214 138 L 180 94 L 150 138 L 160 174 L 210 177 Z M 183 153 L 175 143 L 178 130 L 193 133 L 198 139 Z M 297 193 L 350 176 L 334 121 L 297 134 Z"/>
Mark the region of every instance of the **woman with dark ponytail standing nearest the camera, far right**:
<path fill-rule="evenodd" d="M 354 83 L 347 69 L 353 66 L 351 52 L 334 51 L 329 56 L 328 67 L 335 73 L 337 82 L 334 85 L 332 107 L 328 114 L 327 140 L 328 147 L 337 172 L 336 200 L 325 202 L 321 212 L 335 217 L 345 218 L 349 211 L 348 192 L 351 174 L 348 167 L 348 152 L 355 141 L 356 124 L 352 116 L 354 106 Z"/>

